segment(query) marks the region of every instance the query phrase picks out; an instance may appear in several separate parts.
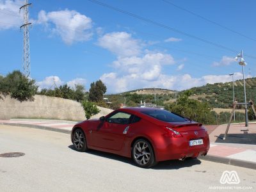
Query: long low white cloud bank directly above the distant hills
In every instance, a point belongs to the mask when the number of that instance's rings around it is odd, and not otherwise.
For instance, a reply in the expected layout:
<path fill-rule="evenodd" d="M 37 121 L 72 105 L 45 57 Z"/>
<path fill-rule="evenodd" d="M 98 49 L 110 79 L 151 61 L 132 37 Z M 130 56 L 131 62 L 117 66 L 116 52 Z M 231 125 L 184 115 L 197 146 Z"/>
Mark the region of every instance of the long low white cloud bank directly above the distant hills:
<path fill-rule="evenodd" d="M 234 73 L 234 80 L 242 79 L 243 74 Z M 202 77 L 192 77 L 190 74 L 168 76 L 160 74 L 155 81 L 141 79 L 141 76 L 134 74 L 125 74 L 118 76 L 115 73 L 104 74 L 100 79 L 106 83 L 109 93 L 120 93 L 138 88 L 166 88 L 170 90 L 186 90 L 195 86 L 203 86 L 207 83 L 225 83 L 232 81 L 228 75 L 216 76 L 207 75 Z"/>

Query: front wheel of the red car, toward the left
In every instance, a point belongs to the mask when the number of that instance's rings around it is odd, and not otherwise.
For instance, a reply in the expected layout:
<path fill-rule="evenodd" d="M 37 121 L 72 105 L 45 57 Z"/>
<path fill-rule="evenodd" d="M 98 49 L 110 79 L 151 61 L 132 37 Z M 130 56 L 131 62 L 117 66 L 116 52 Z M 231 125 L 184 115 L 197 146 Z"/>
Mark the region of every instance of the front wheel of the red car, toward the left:
<path fill-rule="evenodd" d="M 82 129 L 76 129 L 73 132 L 72 142 L 77 151 L 84 152 L 88 150 L 86 138 Z"/>

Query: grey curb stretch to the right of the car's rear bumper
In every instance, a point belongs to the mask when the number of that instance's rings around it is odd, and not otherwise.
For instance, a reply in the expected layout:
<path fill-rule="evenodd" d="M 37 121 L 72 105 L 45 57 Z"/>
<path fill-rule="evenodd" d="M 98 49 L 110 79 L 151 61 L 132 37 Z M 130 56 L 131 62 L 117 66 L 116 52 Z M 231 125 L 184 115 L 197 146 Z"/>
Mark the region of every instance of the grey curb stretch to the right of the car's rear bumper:
<path fill-rule="evenodd" d="M 256 170 L 256 163 L 253 163 L 250 161 L 243 161 L 239 159 L 232 159 L 228 157 L 218 157 L 218 156 L 211 156 L 211 155 L 200 156 L 198 157 L 198 159 L 202 159 L 205 161 L 212 161 L 216 163 L 230 164 L 234 166 L 240 166 L 240 167 Z"/>

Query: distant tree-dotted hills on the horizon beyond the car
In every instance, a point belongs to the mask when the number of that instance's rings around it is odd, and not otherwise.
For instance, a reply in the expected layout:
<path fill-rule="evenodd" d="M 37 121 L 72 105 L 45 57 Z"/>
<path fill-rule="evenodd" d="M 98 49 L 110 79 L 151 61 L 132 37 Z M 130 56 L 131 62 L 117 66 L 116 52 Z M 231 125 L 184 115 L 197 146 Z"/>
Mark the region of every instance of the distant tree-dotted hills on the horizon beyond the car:
<path fill-rule="evenodd" d="M 252 99 L 254 102 L 256 102 L 256 77 L 248 78 L 245 80 L 247 101 Z M 234 88 L 237 101 L 244 102 L 243 79 L 234 81 Z M 189 90 L 191 90 L 193 93 L 191 99 L 209 102 L 212 108 L 232 108 L 232 82 L 205 84 L 204 86 L 194 87 Z M 179 94 L 182 92 L 177 93 L 177 97 L 179 97 Z M 157 102 L 158 104 L 163 105 L 164 103 L 175 102 L 175 91 L 161 88 L 143 88 L 129 92 L 108 95 L 108 97 L 111 101 L 118 100 L 118 102 L 123 103 L 125 101 L 129 102 L 130 100 L 136 103 L 139 103 L 141 100 L 146 100 L 146 102 Z M 240 106 L 240 108 L 243 107 Z"/>

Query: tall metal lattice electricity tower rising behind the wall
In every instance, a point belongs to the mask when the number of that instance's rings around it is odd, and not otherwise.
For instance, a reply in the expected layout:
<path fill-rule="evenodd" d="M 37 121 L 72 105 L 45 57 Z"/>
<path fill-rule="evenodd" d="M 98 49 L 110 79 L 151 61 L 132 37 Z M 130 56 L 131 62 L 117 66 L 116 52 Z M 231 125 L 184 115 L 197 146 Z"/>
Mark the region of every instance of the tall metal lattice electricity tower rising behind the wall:
<path fill-rule="evenodd" d="M 20 7 L 20 10 L 23 10 L 23 25 L 20 26 L 20 29 L 23 28 L 23 74 L 26 77 L 30 77 L 30 51 L 29 51 L 29 25 L 31 22 L 28 22 L 28 7 L 31 3 L 28 3 L 28 0 L 25 1 L 25 4 Z"/>

